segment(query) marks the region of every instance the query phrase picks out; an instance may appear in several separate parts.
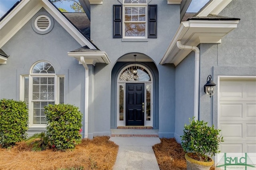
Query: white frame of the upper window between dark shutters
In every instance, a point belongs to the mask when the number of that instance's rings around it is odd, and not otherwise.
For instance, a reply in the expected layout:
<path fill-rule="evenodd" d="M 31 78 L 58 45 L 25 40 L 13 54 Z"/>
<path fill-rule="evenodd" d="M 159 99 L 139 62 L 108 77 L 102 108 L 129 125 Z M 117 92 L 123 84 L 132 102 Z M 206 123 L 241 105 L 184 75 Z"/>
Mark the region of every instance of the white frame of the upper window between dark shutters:
<path fill-rule="evenodd" d="M 145 36 L 125 36 L 125 23 L 142 23 L 140 21 L 125 21 L 125 8 L 126 7 L 145 7 Z M 123 38 L 148 38 L 148 4 L 123 4 L 123 11 L 122 11 L 122 32 Z M 144 22 L 143 22 L 144 23 Z"/>

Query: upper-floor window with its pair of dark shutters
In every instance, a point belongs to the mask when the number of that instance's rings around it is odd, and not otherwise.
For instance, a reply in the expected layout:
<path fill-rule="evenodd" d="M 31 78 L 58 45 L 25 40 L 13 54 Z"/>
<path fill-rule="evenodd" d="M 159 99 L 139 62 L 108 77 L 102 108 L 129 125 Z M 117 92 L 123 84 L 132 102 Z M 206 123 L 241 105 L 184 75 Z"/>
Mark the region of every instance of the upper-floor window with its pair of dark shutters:
<path fill-rule="evenodd" d="M 114 5 L 113 38 L 157 38 L 157 5 L 146 0 L 124 0 Z"/>

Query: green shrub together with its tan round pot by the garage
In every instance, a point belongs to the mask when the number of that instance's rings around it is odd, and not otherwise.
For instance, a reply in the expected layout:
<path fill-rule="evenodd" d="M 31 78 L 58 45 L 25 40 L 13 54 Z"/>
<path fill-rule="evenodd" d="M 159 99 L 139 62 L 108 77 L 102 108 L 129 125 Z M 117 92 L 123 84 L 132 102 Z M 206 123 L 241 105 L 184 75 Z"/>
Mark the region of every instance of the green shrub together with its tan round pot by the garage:
<path fill-rule="evenodd" d="M 209 156 L 215 156 L 220 142 L 220 130 L 214 125 L 208 127 L 207 122 L 189 119 L 190 125 L 185 125 L 181 145 L 185 152 L 188 170 L 209 170 L 214 161 Z"/>

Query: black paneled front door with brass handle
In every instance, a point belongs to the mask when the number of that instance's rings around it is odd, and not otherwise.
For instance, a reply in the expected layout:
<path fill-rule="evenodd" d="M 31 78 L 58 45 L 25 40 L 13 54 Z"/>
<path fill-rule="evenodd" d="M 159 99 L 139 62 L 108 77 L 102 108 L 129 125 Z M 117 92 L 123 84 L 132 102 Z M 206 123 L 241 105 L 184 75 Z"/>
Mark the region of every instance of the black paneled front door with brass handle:
<path fill-rule="evenodd" d="M 144 126 L 144 83 L 126 83 L 126 126 Z"/>

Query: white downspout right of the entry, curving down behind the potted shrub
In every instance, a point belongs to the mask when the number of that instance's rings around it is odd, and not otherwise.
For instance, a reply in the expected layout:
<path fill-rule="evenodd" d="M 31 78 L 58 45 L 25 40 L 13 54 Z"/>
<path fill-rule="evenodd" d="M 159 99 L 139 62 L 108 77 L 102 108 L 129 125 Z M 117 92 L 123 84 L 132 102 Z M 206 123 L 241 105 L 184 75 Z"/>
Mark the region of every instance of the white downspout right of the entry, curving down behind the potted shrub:
<path fill-rule="evenodd" d="M 194 87 L 194 117 L 198 120 L 199 116 L 199 60 L 200 50 L 196 46 L 182 45 L 180 40 L 177 41 L 179 49 L 188 49 L 195 51 L 195 87 Z"/>

